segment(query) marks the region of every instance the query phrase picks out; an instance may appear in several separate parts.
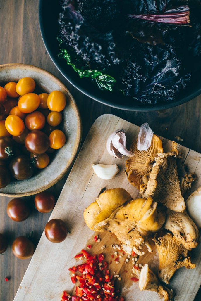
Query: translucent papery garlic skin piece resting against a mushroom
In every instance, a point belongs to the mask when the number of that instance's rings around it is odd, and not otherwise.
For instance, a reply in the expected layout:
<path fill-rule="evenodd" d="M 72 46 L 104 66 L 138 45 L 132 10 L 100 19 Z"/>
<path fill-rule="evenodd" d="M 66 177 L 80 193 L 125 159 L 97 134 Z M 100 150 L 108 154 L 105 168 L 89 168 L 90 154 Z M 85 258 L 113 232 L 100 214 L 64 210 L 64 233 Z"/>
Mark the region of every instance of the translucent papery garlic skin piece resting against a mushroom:
<path fill-rule="evenodd" d="M 148 123 L 143 123 L 140 126 L 140 132 L 137 139 L 137 149 L 139 151 L 147 151 L 151 145 L 153 137 L 152 129 L 150 129 Z"/>

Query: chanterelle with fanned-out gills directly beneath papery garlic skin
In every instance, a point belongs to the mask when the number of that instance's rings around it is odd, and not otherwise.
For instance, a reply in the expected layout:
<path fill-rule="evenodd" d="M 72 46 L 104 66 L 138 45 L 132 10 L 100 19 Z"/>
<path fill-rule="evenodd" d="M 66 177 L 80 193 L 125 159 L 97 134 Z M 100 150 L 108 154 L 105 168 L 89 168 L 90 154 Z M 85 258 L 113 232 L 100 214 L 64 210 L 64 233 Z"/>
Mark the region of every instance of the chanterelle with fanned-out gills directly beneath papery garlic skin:
<path fill-rule="evenodd" d="M 163 152 L 162 142 L 159 137 L 153 135 L 151 146 L 147 151 L 138 151 L 137 141 L 132 142 L 130 151 L 134 156 L 126 161 L 128 181 L 140 189 L 140 185 L 143 183 L 143 177 L 146 178 L 146 175 L 151 171 L 155 157 L 158 153 Z"/>

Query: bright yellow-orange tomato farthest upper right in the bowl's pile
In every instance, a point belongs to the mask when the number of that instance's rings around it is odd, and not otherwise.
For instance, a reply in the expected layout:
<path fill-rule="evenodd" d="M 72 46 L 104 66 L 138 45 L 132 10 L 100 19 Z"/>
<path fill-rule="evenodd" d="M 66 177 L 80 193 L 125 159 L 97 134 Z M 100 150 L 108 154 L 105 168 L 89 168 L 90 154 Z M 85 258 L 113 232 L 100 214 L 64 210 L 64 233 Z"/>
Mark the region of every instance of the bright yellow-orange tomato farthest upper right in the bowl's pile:
<path fill-rule="evenodd" d="M 47 98 L 47 106 L 51 111 L 61 112 L 65 105 L 66 97 L 61 91 L 52 91 Z"/>

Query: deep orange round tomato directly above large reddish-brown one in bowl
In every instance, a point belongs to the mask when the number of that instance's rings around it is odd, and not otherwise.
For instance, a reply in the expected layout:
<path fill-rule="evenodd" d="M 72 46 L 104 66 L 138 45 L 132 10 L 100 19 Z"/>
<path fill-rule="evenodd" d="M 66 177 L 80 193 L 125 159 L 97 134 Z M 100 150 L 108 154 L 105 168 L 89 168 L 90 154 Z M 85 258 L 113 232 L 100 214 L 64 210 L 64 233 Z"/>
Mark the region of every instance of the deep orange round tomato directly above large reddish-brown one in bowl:
<path fill-rule="evenodd" d="M 25 125 L 30 131 L 41 130 L 46 123 L 45 116 L 38 111 L 32 112 L 25 118 Z"/>

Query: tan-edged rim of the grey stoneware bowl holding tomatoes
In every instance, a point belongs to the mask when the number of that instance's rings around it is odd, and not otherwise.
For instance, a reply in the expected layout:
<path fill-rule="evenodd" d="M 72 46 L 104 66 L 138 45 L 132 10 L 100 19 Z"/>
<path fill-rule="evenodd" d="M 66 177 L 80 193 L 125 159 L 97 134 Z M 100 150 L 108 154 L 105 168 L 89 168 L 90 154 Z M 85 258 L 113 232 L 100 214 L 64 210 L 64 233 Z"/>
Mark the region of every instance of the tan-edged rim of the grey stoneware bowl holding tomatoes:
<path fill-rule="evenodd" d="M 76 115 L 76 119 L 77 119 L 77 135 L 76 135 L 76 143 L 74 145 L 74 149 L 73 149 L 73 153 L 71 154 L 71 158 L 68 161 L 68 164 L 66 164 L 66 166 L 64 167 L 64 169 L 62 170 L 62 172 L 60 173 L 60 175 L 58 175 L 55 179 L 53 179 L 50 183 L 42 186 L 41 188 L 38 188 L 36 190 L 30 191 L 30 192 L 24 192 L 24 193 L 17 193 L 17 194 L 11 194 L 11 193 L 4 193 L 0 190 L 0 195 L 1 196 L 5 196 L 5 197 L 25 197 L 25 196 L 29 196 L 29 195 L 33 195 L 33 194 L 37 194 L 39 192 L 42 192 L 50 187 L 52 187 L 53 185 L 55 185 L 59 180 L 61 180 L 61 178 L 64 177 L 64 175 L 68 172 L 68 170 L 71 168 L 72 164 L 74 163 L 74 160 L 77 157 L 78 151 L 80 149 L 80 145 L 81 145 L 81 140 L 82 140 L 82 121 L 81 121 L 81 116 L 80 116 L 80 112 L 79 109 L 77 107 L 77 104 L 73 98 L 73 96 L 71 95 L 71 92 L 68 90 L 68 88 L 64 85 L 63 82 L 61 82 L 60 79 L 58 79 L 55 75 L 53 75 L 52 73 L 50 73 L 49 71 L 37 67 L 37 66 L 33 66 L 33 65 L 29 65 L 29 64 L 22 64 L 22 63 L 9 63 L 9 64 L 1 64 L 0 65 L 0 69 L 2 67 L 25 67 L 25 68 L 29 68 L 29 69 L 34 69 L 34 70 L 39 70 L 42 71 L 46 74 L 48 74 L 49 76 L 53 77 L 54 80 L 56 82 L 58 82 L 58 84 L 60 86 L 62 86 L 62 88 L 64 88 L 66 90 L 66 92 L 69 95 L 69 101 L 71 102 L 75 115 Z"/>

